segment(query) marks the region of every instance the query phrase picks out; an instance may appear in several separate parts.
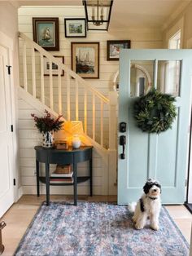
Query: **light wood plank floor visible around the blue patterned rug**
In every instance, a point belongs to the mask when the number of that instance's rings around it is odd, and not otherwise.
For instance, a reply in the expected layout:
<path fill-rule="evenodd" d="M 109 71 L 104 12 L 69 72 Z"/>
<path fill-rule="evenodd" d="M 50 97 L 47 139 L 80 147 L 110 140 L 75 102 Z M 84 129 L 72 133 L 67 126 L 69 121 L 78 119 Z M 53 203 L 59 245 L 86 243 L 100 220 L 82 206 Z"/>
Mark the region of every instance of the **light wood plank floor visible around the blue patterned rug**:
<path fill-rule="evenodd" d="M 2 241 L 5 251 L 2 256 L 13 255 L 20 239 L 24 235 L 39 205 L 45 201 L 45 196 L 22 196 L 20 201 L 11 206 L 4 216 L 0 219 L 7 223 L 7 227 L 2 230 Z M 72 196 L 50 196 L 50 201 L 68 201 Z M 116 196 L 79 196 L 79 201 L 116 201 Z M 186 210 L 184 205 L 166 206 L 177 226 L 180 228 L 185 239 L 190 243 L 190 229 L 192 214 Z M 29 256 L 29 255 L 28 255 Z"/>

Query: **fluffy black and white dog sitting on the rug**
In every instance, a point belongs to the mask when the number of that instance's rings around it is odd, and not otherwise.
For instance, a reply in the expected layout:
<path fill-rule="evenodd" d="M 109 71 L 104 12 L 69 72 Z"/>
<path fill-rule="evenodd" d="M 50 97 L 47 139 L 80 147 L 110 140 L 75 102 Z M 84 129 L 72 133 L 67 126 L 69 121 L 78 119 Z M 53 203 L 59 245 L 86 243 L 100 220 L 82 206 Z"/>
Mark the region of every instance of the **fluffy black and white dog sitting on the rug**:
<path fill-rule="evenodd" d="M 133 222 L 135 223 L 135 228 L 142 229 L 146 224 L 146 219 L 149 217 L 151 228 L 158 230 L 161 186 L 154 179 L 148 179 L 143 187 L 143 191 L 144 193 L 139 201 L 137 201 L 134 210 Z"/>

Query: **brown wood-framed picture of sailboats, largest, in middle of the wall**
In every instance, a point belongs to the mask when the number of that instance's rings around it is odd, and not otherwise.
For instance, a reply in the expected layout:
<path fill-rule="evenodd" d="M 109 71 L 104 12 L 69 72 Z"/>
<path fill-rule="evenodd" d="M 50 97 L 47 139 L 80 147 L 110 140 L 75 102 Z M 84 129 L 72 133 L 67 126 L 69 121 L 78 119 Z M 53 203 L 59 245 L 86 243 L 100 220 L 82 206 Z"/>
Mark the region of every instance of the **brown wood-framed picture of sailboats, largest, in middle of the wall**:
<path fill-rule="evenodd" d="M 83 78 L 99 78 L 99 42 L 72 42 L 72 70 Z"/>

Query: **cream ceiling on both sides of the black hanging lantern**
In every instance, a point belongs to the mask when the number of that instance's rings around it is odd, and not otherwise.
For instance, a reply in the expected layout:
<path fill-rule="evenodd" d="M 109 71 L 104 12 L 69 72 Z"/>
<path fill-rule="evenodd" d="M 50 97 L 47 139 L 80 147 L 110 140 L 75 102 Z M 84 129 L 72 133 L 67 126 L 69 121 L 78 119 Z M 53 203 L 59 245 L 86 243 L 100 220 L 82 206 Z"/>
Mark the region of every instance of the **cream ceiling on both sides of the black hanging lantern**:
<path fill-rule="evenodd" d="M 0 0 L 1 1 L 1 0 Z M 162 29 L 192 0 L 114 0 L 111 30 Z M 82 6 L 82 0 L 12 0 L 20 6 Z"/>

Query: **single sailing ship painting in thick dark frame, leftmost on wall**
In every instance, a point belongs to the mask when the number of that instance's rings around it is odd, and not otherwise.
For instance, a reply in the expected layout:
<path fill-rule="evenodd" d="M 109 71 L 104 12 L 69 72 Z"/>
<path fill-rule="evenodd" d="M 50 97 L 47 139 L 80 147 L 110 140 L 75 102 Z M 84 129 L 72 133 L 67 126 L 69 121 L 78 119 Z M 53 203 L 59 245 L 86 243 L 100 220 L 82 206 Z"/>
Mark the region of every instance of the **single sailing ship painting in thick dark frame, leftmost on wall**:
<path fill-rule="evenodd" d="M 33 41 L 46 51 L 59 51 L 59 18 L 33 18 Z"/>

